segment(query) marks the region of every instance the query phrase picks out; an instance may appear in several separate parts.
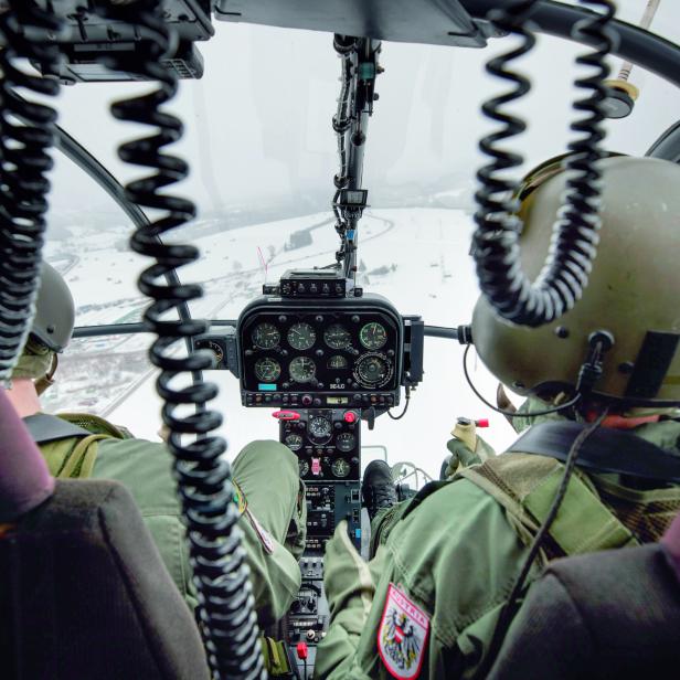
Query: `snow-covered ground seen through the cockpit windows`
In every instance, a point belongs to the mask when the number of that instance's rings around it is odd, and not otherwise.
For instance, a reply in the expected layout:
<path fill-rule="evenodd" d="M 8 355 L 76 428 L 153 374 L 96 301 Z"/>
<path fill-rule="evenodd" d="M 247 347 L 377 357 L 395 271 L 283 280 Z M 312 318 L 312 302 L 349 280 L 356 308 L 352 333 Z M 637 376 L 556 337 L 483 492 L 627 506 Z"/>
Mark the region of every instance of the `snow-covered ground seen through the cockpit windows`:
<path fill-rule="evenodd" d="M 222 233 L 211 233 L 219 224 L 192 227 L 189 240 L 202 255 L 180 277 L 200 280 L 205 287 L 205 296 L 192 304 L 192 314 L 236 318 L 261 294 L 265 278 L 274 283 L 288 268 L 334 262 L 338 236 L 332 223 L 326 223 L 329 219 L 329 214 L 314 214 Z M 124 224 L 70 229 L 70 238 L 50 243 L 47 259 L 72 287 L 77 325 L 138 320 L 146 302 L 132 281 L 145 258 L 125 249 Z M 471 219 L 459 210 L 368 211 L 360 230 L 359 283 L 387 297 L 402 314 L 421 315 L 428 325 L 468 322 L 477 298 L 468 256 L 471 229 Z M 302 230 L 309 230 L 311 243 L 290 247 L 291 234 Z M 204 232 L 208 235 L 201 235 Z M 47 393 L 47 407 L 98 413 L 137 436 L 156 438 L 160 402 L 144 353 L 148 342 L 148 336 L 74 340 L 62 361 L 61 380 Z M 391 463 L 412 460 L 435 476 L 457 416 L 489 417 L 491 427 L 482 431 L 484 436 L 500 450 L 511 443 L 510 426 L 480 404 L 465 383 L 461 357 L 457 342 L 426 339 L 425 380 L 412 394 L 406 417 L 379 418 L 373 432 L 364 427 L 363 444 L 385 446 Z M 492 399 L 496 381 L 476 361 L 472 375 Z M 221 387 L 216 406 L 225 414 L 222 429 L 230 442 L 230 457 L 253 438 L 277 436 L 268 410 L 241 406 L 236 379 L 223 372 L 211 372 L 209 378 Z M 379 455 L 379 448 L 366 449 L 363 463 Z"/>

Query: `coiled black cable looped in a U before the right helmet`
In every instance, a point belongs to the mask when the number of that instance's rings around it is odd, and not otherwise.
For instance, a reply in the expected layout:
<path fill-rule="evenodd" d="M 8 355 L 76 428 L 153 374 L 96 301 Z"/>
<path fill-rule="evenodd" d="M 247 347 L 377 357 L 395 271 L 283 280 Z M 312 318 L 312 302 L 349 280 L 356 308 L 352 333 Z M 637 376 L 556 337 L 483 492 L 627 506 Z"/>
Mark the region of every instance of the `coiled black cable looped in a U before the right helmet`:
<path fill-rule="evenodd" d="M 571 129 L 581 136 L 569 145 L 565 203 L 553 227 L 546 262 L 533 283 L 521 268 L 521 223 L 514 214 L 516 200 L 509 198 L 517 191 L 517 182 L 501 176 L 520 166 L 522 157 L 501 149 L 498 144 L 525 129 L 524 121 L 508 114 L 503 107 L 530 89 L 529 81 L 510 71 L 508 65 L 534 45 L 530 18 L 536 0 L 521 0 L 487 15 L 499 29 L 520 36 L 522 42 L 487 64 L 489 73 L 513 83 L 514 88 L 482 106 L 485 115 L 502 127 L 479 144 L 493 160 L 477 173 L 481 187 L 475 194 L 478 210 L 475 214 L 474 254 L 484 295 L 500 316 L 522 326 L 542 326 L 572 309 L 587 285 L 597 251 L 601 172 L 596 161 L 603 155 L 599 148 L 604 138 L 601 124 L 605 117 L 603 102 L 606 96 L 603 81 L 609 74 L 605 57 L 613 46 L 613 33 L 607 24 L 614 18 L 615 8 L 609 0 L 581 1 L 603 10 L 602 13 L 594 12 L 592 19 L 575 29 L 581 36 L 587 36 L 597 45 L 593 52 L 576 59 L 577 64 L 591 67 L 587 77 L 575 82 L 589 95 L 574 103 L 574 108 L 584 117 L 573 123 Z"/>

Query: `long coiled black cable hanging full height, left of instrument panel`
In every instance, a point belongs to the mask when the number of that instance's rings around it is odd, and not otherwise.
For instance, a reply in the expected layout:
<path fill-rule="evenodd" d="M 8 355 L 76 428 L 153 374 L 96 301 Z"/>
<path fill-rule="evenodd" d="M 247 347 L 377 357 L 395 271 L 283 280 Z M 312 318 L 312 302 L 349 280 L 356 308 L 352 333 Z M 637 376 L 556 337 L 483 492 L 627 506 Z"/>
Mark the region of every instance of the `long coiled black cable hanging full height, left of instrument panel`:
<path fill-rule="evenodd" d="M 136 252 L 156 258 L 156 263 L 142 272 L 138 284 L 152 299 L 144 316 L 145 325 L 158 334 L 149 357 L 161 369 L 157 389 L 164 400 L 162 418 L 170 431 L 168 446 L 176 458 L 178 493 L 187 517 L 208 659 L 214 678 L 266 678 L 249 567 L 236 525 L 238 511 L 232 502 L 231 468 L 222 457 L 226 443 L 209 435 L 222 422 L 216 412 L 204 408 L 205 402 L 215 399 L 217 389 L 209 383 L 176 386 L 178 380 L 189 378 L 192 371 L 209 369 L 211 360 L 204 353 L 173 355 L 181 339 L 204 332 L 206 323 L 169 318 L 172 317 L 169 312 L 182 302 L 201 297 L 202 288 L 190 284 L 171 285 L 163 278 L 172 269 L 199 258 L 194 246 L 160 242 L 160 236 L 187 223 L 195 213 L 191 201 L 161 193 L 163 188 L 188 174 L 183 160 L 162 151 L 182 135 L 181 121 L 160 110 L 177 92 L 177 76 L 161 64 L 172 50 L 173 35 L 161 19 L 158 0 L 118 6 L 108 10 L 107 15 L 134 24 L 142 40 L 135 55 L 114 54 L 104 63 L 111 70 L 137 73 L 159 84 L 148 94 L 114 103 L 111 113 L 120 120 L 157 128 L 149 137 L 121 145 L 118 153 L 126 162 L 155 171 L 128 183 L 127 196 L 141 206 L 163 212 L 163 216 L 150 226 L 138 229 L 130 244 Z M 194 406 L 195 412 L 180 415 L 179 411 L 187 406 Z M 191 438 L 189 443 L 188 437 Z"/>

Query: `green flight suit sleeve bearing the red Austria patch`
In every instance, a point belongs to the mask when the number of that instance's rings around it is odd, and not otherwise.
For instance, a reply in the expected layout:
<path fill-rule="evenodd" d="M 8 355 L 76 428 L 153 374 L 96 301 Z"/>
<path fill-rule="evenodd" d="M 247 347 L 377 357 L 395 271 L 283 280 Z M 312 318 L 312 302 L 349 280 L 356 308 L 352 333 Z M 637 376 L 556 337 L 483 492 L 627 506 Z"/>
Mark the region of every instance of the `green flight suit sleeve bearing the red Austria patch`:
<path fill-rule="evenodd" d="M 315 678 L 474 677 L 527 554 L 503 509 L 469 480 L 446 485 L 395 527 L 366 565 L 370 582 L 339 533 L 327 546 L 331 624 Z"/>

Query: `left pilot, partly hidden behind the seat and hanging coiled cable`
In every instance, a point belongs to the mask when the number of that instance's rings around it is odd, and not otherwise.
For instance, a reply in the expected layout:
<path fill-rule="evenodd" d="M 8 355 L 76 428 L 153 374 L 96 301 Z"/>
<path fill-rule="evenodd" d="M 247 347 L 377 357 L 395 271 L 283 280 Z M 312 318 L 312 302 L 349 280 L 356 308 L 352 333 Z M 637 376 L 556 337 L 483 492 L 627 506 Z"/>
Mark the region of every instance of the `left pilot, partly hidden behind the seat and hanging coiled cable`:
<path fill-rule="evenodd" d="M 172 456 L 164 444 L 136 439 L 95 415 L 42 413 L 39 395 L 53 382 L 57 354 L 71 340 L 74 316 L 66 283 L 43 263 L 33 326 L 7 395 L 54 477 L 114 479 L 130 490 L 170 575 L 194 606 Z M 297 559 L 305 546 L 304 485 L 297 459 L 278 442 L 248 444 L 232 471 L 256 609 L 259 623 L 267 625 L 287 612 L 300 586 Z"/>

